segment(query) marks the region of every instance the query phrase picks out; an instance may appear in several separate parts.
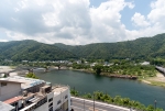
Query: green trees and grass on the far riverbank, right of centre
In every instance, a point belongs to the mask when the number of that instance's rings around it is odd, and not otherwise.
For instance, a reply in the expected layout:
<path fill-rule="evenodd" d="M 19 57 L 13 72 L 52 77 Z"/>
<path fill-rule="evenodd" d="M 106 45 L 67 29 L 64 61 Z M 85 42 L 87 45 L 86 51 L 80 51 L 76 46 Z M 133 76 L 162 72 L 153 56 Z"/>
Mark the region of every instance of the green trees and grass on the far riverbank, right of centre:
<path fill-rule="evenodd" d="M 74 64 L 75 69 L 86 69 L 89 73 L 105 76 L 136 76 L 139 78 L 155 77 L 156 69 L 153 65 L 141 65 L 132 60 L 118 60 L 114 59 L 112 64 L 103 65 L 98 63 L 95 66 L 87 66 L 86 64 Z"/>

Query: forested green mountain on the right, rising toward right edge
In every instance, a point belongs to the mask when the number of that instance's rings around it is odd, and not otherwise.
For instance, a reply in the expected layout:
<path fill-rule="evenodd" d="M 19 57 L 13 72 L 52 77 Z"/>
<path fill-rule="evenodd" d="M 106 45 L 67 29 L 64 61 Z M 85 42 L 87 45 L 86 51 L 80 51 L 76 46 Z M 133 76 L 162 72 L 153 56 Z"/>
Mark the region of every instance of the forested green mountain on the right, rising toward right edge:
<path fill-rule="evenodd" d="M 118 43 L 95 43 L 77 46 L 57 43 L 55 46 L 84 58 L 165 58 L 165 34 Z"/>

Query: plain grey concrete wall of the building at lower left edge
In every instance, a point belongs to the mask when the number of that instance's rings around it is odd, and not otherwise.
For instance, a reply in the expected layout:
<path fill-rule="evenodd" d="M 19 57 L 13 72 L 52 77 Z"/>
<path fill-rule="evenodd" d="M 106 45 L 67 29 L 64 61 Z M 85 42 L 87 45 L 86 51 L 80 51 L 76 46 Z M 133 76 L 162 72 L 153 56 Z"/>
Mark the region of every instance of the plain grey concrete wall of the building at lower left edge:
<path fill-rule="evenodd" d="M 21 84 L 7 82 L 7 86 L 1 86 L 0 82 L 0 101 L 19 96 L 21 92 Z"/>

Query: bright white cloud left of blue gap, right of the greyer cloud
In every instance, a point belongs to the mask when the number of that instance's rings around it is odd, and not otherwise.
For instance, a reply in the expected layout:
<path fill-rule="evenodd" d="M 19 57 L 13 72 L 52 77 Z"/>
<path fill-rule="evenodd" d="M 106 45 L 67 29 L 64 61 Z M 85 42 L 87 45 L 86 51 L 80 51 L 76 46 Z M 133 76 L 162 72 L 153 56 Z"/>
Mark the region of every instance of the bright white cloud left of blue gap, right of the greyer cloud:
<path fill-rule="evenodd" d="M 102 42 L 120 41 L 121 37 L 124 37 L 125 26 L 120 21 L 120 11 L 124 7 L 124 0 L 110 0 L 98 8 L 91 8 L 92 36 Z"/>

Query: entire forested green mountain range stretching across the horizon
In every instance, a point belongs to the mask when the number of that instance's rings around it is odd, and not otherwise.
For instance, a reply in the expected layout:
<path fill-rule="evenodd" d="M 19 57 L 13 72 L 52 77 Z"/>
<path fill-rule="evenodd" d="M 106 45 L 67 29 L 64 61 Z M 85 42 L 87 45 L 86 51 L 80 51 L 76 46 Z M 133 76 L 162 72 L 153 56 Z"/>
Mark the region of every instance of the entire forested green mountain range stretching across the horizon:
<path fill-rule="evenodd" d="M 70 58 L 88 59 L 146 59 L 165 58 L 165 34 L 118 43 L 88 45 L 44 44 L 35 41 L 0 42 L 0 59 L 57 60 Z"/>

